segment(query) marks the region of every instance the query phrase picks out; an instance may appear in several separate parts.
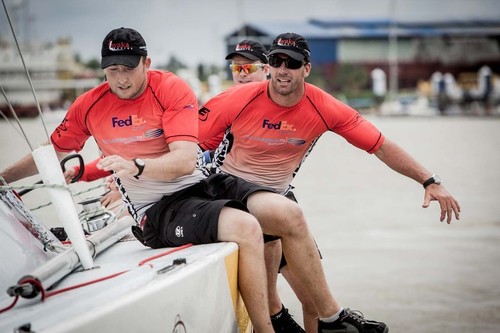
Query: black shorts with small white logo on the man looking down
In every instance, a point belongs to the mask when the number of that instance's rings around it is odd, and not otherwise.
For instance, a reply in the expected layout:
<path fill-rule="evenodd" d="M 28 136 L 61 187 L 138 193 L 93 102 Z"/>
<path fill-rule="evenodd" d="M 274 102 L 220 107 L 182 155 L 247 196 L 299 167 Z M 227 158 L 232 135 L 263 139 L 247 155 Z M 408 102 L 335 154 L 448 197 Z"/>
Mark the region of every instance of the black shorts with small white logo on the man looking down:
<path fill-rule="evenodd" d="M 275 192 L 238 177 L 215 174 L 165 196 L 146 211 L 142 233 L 144 243 L 160 248 L 217 242 L 222 208 L 248 211 L 248 196 L 257 191 Z"/>

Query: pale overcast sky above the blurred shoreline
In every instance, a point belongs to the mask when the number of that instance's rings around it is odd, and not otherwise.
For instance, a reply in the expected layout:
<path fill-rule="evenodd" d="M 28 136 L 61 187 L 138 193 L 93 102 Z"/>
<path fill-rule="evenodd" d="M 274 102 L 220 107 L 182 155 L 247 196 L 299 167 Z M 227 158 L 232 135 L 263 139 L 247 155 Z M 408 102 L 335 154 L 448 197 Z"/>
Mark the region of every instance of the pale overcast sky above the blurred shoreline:
<path fill-rule="evenodd" d="M 224 38 L 245 23 L 317 19 L 436 21 L 500 19 L 500 0 L 2 0 L 18 39 L 70 37 L 83 60 L 100 57 L 106 34 L 138 30 L 149 55 L 164 65 L 172 55 L 188 66 L 225 64 Z M 21 8 L 22 10 L 16 10 Z M 283 31 L 285 32 L 285 31 Z M 295 31 L 300 33 L 299 31 Z M 0 37 L 12 40 L 5 12 Z"/>

